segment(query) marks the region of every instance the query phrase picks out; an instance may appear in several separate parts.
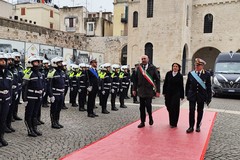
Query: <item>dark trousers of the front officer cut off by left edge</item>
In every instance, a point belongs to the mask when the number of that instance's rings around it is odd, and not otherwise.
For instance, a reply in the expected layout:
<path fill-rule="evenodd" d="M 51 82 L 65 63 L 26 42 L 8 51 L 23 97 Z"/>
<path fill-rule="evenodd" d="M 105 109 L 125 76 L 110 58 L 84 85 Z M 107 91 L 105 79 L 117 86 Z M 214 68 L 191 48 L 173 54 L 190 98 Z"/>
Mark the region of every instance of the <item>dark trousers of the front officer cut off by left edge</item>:
<path fill-rule="evenodd" d="M 6 119 L 9 111 L 10 101 L 0 101 L 0 135 L 3 135 L 6 127 Z"/>

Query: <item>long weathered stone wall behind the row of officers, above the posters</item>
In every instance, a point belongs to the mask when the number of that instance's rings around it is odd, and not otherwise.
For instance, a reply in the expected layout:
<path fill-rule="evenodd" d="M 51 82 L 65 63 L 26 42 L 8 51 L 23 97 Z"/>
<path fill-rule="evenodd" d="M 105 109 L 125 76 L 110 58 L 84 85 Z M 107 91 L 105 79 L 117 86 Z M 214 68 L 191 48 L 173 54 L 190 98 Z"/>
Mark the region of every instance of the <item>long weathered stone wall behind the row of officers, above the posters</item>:
<path fill-rule="evenodd" d="M 86 37 L 5 18 L 0 18 L 0 38 L 104 53 L 104 61 L 110 63 L 120 63 L 127 44 L 127 37 Z"/>

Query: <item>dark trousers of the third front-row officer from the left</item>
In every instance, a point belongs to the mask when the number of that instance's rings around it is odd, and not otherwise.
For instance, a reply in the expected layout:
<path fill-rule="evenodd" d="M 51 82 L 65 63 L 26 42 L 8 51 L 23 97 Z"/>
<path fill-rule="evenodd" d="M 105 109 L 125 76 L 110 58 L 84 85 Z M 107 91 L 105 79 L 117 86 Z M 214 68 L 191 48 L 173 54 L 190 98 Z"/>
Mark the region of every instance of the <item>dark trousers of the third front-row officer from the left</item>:
<path fill-rule="evenodd" d="M 54 97 L 55 97 L 55 101 L 53 103 L 51 103 L 51 107 L 50 107 L 50 116 L 54 120 L 59 120 L 64 95 L 63 94 L 62 95 L 54 95 Z"/>

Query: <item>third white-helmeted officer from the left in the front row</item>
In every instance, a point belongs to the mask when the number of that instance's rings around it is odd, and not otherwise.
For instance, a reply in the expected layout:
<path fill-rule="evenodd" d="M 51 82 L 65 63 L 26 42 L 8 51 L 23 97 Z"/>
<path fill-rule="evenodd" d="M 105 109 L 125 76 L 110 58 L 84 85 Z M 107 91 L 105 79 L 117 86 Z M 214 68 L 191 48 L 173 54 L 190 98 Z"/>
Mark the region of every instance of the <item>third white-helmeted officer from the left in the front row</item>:
<path fill-rule="evenodd" d="M 65 73 L 63 72 L 63 58 L 55 57 L 51 60 L 54 68 L 48 73 L 49 78 L 49 97 L 51 101 L 50 117 L 52 128 L 60 129 L 63 125 L 59 123 L 60 112 L 64 100 Z"/>

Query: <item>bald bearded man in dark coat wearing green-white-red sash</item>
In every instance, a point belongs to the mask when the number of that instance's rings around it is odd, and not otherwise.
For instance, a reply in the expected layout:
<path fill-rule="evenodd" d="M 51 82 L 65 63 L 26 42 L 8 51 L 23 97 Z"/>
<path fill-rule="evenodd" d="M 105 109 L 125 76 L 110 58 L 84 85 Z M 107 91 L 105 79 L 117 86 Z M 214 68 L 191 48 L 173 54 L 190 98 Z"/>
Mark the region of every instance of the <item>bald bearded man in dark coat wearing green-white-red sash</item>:
<path fill-rule="evenodd" d="M 137 92 L 140 97 L 141 123 L 138 128 L 145 127 L 145 108 L 149 116 L 149 125 L 153 125 L 152 98 L 160 96 L 160 79 L 156 67 L 149 63 L 147 55 L 143 55 L 141 60 L 142 63 L 137 68 L 133 84 L 133 96 L 136 96 Z"/>

